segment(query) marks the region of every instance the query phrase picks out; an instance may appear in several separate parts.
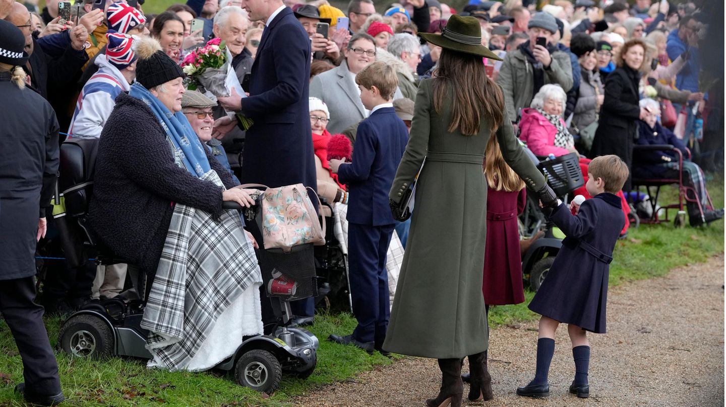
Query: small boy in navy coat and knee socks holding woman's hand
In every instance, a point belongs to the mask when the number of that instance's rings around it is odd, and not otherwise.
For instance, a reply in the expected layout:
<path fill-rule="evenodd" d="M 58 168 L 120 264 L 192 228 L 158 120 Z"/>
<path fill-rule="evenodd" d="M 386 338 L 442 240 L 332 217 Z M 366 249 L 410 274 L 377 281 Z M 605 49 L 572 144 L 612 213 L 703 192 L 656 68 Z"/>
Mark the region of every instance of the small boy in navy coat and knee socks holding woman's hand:
<path fill-rule="evenodd" d="M 590 396 L 587 368 L 590 343 L 586 332 L 605 333 L 605 303 L 613 248 L 625 218 L 617 193 L 628 177 L 628 167 L 619 156 L 599 156 L 587 170 L 587 193 L 592 199 L 582 206 L 560 204 L 544 208 L 549 217 L 567 236 L 562 242 L 547 279 L 534 295 L 529 309 L 542 315 L 537 340 L 537 372 L 529 385 L 519 387 L 518 395 L 550 395 L 547 373 L 555 353 L 555 330 L 568 324 L 575 361 L 575 379 L 570 393 Z M 571 211 L 575 211 L 573 215 Z"/>

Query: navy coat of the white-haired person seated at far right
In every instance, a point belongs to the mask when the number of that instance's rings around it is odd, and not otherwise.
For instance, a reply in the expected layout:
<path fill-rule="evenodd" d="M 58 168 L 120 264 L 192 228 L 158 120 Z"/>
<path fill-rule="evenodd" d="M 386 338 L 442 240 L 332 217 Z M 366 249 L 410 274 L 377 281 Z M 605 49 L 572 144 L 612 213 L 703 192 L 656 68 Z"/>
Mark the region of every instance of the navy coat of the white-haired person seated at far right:
<path fill-rule="evenodd" d="M 650 128 L 648 123 L 642 120 L 637 121 L 638 137 L 635 143 L 639 146 L 653 144 L 670 144 L 678 148 L 685 157 L 687 150 L 683 142 L 673 134 L 671 130 L 656 122 L 655 127 Z M 670 160 L 670 161 L 669 161 Z M 633 177 L 636 178 L 663 178 L 671 170 L 658 164 L 678 161 L 678 156 L 673 150 L 638 150 L 633 151 Z"/>

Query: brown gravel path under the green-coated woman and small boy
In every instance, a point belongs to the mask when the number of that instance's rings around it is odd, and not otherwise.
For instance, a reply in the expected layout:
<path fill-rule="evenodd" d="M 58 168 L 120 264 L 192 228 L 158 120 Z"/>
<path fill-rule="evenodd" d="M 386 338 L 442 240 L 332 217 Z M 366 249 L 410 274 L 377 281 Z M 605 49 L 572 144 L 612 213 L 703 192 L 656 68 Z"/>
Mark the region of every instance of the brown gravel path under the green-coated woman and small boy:
<path fill-rule="evenodd" d="M 537 322 L 492 331 L 485 406 L 724 406 L 724 256 L 610 290 L 608 333 L 589 335 L 590 399 L 568 394 L 574 362 L 560 327 L 546 400 L 515 395 L 534 375 Z M 466 367 L 464 369 L 467 369 Z M 298 406 L 424 406 L 436 361 L 404 358 L 299 397 Z M 465 394 L 468 385 L 465 385 Z M 466 403 L 466 399 L 465 399 Z M 482 403 L 469 403 L 481 406 Z"/>

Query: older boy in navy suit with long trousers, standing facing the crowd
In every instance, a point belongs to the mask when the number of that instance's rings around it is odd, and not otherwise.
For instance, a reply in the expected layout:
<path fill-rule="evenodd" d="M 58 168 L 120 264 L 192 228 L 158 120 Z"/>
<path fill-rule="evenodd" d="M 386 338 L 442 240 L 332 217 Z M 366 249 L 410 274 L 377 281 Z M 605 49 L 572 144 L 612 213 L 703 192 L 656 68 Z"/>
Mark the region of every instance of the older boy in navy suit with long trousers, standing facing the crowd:
<path fill-rule="evenodd" d="M 373 353 L 381 351 L 391 310 L 386 251 L 396 221 L 388 206 L 388 191 L 406 149 L 408 130 L 391 104 L 398 85 L 393 68 L 373 62 L 358 72 L 356 83 L 370 117 L 358 126 L 352 162 L 333 159 L 330 168 L 350 189 L 349 277 L 358 327 L 352 335 L 328 339 Z"/>

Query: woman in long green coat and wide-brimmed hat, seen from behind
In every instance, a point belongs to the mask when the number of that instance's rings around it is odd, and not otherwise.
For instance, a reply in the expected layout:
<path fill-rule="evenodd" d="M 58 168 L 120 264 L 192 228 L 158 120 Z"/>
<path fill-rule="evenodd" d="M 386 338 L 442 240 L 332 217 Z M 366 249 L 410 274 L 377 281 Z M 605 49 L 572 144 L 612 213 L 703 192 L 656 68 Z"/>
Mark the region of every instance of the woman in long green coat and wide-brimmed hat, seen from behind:
<path fill-rule="evenodd" d="M 484 352 L 488 327 L 481 292 L 486 238 L 486 178 L 482 164 L 489 137 L 526 185 L 549 204 L 556 198 L 510 125 L 502 90 L 486 77 L 474 17 L 454 14 L 441 35 L 420 34 L 443 47 L 435 77 L 416 96 L 409 143 L 391 187 L 391 206 L 417 180 L 415 209 L 383 349 L 439 359 L 443 374 L 433 406 L 460 406 L 461 362 L 469 356 L 470 398 L 492 398 Z"/>

